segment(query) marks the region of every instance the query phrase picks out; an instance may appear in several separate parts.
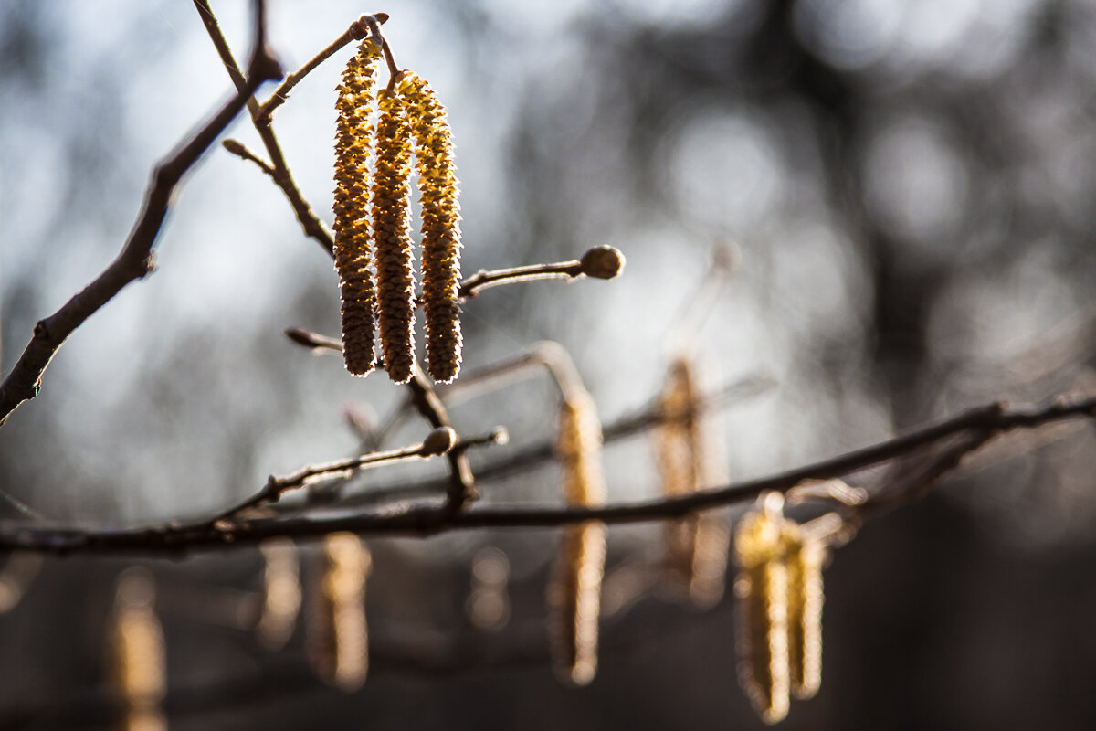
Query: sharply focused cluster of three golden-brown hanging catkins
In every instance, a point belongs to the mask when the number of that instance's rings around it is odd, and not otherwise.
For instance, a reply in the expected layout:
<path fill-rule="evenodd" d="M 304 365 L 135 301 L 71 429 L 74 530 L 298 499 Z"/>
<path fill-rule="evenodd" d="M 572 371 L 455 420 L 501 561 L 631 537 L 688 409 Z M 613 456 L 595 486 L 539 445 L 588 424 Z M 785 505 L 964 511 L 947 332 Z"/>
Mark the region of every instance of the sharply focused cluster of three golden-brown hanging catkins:
<path fill-rule="evenodd" d="M 448 382 L 460 370 L 461 345 L 460 206 L 449 124 L 433 90 L 410 71 L 400 72 L 391 90 L 376 91 L 379 59 L 378 45 L 363 41 L 346 65 L 335 104 L 334 240 L 343 357 L 350 373 L 372 372 L 379 329 L 389 377 L 398 384 L 411 378 L 418 305 L 410 232 L 413 152 L 422 208 L 426 363 L 434 380 Z"/>

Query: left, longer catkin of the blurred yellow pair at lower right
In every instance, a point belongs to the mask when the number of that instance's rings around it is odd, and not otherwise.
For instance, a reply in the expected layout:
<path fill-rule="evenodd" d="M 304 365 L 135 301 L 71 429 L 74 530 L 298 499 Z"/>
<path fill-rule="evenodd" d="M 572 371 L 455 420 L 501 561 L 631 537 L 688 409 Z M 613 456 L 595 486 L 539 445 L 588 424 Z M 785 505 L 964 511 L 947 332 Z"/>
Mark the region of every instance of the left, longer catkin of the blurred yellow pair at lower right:
<path fill-rule="evenodd" d="M 739 681 L 766 723 L 788 715 L 790 690 L 783 503 L 779 493 L 767 494 L 763 507 L 746 513 L 734 533 Z"/>

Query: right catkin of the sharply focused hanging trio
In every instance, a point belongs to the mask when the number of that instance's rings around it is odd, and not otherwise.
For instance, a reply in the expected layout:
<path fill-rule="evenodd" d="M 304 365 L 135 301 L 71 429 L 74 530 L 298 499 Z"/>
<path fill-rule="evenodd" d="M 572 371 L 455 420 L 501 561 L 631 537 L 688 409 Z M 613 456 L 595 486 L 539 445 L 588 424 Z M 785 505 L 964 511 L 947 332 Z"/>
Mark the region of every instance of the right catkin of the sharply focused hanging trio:
<path fill-rule="evenodd" d="M 400 81 L 415 141 L 422 208 L 422 301 L 426 366 L 434 380 L 460 372 L 460 204 L 449 122 L 433 89 L 414 73 Z"/>

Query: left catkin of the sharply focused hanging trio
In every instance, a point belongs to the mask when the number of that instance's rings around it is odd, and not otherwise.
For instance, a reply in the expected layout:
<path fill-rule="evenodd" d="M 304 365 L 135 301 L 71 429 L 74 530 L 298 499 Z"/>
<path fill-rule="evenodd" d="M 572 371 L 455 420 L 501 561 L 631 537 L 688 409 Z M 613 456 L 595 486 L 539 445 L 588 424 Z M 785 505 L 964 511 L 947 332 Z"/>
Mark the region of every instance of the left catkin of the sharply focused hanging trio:
<path fill-rule="evenodd" d="M 374 308 L 376 292 L 369 271 L 368 160 L 373 133 L 373 88 L 380 52 L 363 41 L 346 64 L 335 108 L 334 242 L 335 270 L 342 297 L 343 359 L 346 369 L 364 376 L 376 366 Z"/>

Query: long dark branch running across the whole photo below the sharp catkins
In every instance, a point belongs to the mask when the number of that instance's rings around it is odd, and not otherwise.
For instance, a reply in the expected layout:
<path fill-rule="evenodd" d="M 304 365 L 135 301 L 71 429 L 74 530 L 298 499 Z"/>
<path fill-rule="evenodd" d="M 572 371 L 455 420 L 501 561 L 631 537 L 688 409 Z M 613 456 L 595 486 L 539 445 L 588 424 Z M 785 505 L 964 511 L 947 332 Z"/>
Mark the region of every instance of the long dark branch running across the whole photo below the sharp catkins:
<path fill-rule="evenodd" d="M 317 538 L 336 530 L 350 530 L 374 536 L 427 537 L 450 530 L 473 528 L 550 528 L 598 519 L 605 523 L 641 523 L 681 517 L 696 510 L 752 500 L 769 491 L 787 491 L 803 480 L 838 477 L 863 470 L 917 449 L 938 444 L 957 435 L 959 444 L 931 461 L 916 490 L 903 490 L 900 495 L 878 491 L 878 502 L 871 506 L 907 502 L 924 494 L 926 486 L 935 483 L 957 467 L 962 458 L 977 450 L 994 435 L 1016 429 L 1036 429 L 1066 419 L 1096 420 L 1096 396 L 1069 400 L 1060 398 L 1040 408 L 1006 408 L 992 403 L 967 411 L 958 416 L 887 439 L 869 447 L 819 462 L 806 465 L 770 477 L 703 490 L 687 495 L 660 500 L 609 504 L 600 507 L 482 507 L 454 512 L 447 503 L 441 505 L 393 506 L 378 513 L 338 515 L 332 517 L 256 518 L 237 524 L 231 530 L 215 529 L 208 521 L 171 523 L 149 528 L 96 530 L 65 527 L 3 525 L 0 548 L 25 549 L 54 553 L 71 552 L 140 552 L 173 553 L 192 549 L 253 545 L 266 538 L 287 536 L 297 539 Z M 935 466 L 934 466 L 935 465 Z M 870 515 L 870 511 L 866 513 Z"/>

